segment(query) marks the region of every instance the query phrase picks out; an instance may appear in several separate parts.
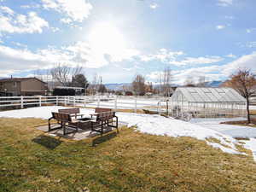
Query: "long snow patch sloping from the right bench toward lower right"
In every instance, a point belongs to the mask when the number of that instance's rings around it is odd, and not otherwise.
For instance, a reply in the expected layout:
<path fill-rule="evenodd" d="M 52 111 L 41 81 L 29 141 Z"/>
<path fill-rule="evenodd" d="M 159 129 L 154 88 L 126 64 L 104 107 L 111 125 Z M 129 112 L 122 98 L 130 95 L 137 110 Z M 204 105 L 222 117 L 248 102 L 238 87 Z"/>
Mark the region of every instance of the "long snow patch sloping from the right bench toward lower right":
<path fill-rule="evenodd" d="M 236 150 L 236 139 L 201 125 L 165 118 L 158 114 L 118 113 L 118 116 L 121 121 L 128 122 L 129 127 L 137 126 L 137 130 L 143 133 L 168 137 L 195 137 L 200 140 L 213 137 Z"/>

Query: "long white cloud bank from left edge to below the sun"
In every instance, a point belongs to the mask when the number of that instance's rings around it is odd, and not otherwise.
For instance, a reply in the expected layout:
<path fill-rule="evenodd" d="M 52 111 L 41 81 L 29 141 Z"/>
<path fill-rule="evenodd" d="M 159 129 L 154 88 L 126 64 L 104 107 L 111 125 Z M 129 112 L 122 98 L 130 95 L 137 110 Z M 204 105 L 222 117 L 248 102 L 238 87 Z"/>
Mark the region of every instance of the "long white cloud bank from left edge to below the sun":
<path fill-rule="evenodd" d="M 56 49 L 38 49 L 31 51 L 22 44 L 14 43 L 18 48 L 10 48 L 0 44 L 0 68 L 1 71 L 20 73 L 35 69 L 50 68 L 56 63 L 62 63 L 69 67 L 77 65 L 87 68 L 100 68 L 107 66 L 111 61 L 131 60 L 138 55 L 136 49 L 125 49 L 121 55 L 111 55 L 108 52 L 99 52 L 87 42 L 78 42 Z"/>

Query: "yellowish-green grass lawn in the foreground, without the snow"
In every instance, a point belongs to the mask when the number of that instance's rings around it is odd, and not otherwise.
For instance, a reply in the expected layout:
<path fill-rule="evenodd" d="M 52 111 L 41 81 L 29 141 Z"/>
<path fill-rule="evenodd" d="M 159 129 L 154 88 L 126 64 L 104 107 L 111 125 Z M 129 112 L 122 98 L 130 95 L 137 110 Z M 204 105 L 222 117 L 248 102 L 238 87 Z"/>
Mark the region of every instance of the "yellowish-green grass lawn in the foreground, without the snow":
<path fill-rule="evenodd" d="M 0 191 L 248 191 L 250 155 L 224 154 L 190 137 L 157 137 L 122 128 L 117 136 L 74 142 L 0 119 Z M 241 149 L 244 150 L 244 149 Z"/>

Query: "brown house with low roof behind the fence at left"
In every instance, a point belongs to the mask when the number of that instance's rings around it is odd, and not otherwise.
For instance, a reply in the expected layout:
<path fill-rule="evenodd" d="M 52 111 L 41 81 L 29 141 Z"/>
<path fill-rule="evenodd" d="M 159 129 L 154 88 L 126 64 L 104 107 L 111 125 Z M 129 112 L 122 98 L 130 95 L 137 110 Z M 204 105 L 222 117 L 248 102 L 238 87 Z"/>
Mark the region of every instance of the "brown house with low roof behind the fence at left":
<path fill-rule="evenodd" d="M 37 78 L 0 79 L 0 96 L 44 96 L 47 90 L 47 84 Z"/>

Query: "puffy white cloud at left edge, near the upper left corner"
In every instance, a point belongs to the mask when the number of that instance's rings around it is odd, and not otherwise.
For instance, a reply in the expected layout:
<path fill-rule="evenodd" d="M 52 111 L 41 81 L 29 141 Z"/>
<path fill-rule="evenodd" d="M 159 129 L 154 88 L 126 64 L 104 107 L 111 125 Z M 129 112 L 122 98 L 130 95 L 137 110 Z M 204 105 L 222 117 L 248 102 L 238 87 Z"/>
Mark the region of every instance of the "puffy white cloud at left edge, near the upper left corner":
<path fill-rule="evenodd" d="M 15 14 L 12 9 L 7 7 L 1 7 L 1 9 L 4 12 L 0 13 L 0 32 L 41 33 L 44 27 L 49 27 L 48 22 L 35 12 L 29 12 L 28 15 L 20 15 Z"/>

